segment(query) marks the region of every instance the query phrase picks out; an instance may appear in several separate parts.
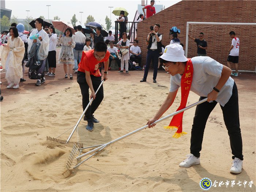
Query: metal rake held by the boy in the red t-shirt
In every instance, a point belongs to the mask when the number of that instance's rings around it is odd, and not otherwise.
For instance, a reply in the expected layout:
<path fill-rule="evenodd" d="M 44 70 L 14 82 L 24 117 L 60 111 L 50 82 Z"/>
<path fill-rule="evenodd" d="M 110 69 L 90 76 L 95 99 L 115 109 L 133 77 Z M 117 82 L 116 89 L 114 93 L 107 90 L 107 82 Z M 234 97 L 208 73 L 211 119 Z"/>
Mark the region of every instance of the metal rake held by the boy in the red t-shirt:
<path fill-rule="evenodd" d="M 97 89 L 96 92 L 95 92 L 95 95 L 98 93 L 99 88 L 102 86 L 103 82 L 104 82 L 104 80 L 102 80 L 102 81 L 101 81 L 101 84 L 99 84 L 99 87 L 98 87 L 98 89 Z M 83 143 L 71 142 L 71 141 L 69 141 L 69 140 L 71 139 L 72 135 L 74 134 L 76 128 L 78 128 L 78 124 L 79 124 L 80 121 L 82 120 L 82 118 L 83 118 L 85 112 L 87 111 L 87 109 L 89 108 L 89 106 L 91 105 L 92 102 L 93 102 L 93 98 L 91 98 L 90 102 L 88 103 L 88 105 L 87 105 L 86 108 L 84 109 L 83 114 L 80 116 L 78 122 L 76 123 L 76 125 L 75 125 L 73 131 L 71 132 L 71 134 L 69 135 L 69 137 L 68 137 L 67 140 L 57 139 L 60 135 L 57 136 L 57 138 L 52 138 L 52 137 L 50 137 L 50 136 L 46 136 L 46 140 L 51 140 L 52 142 L 61 143 L 61 144 L 64 144 L 64 145 L 69 145 L 69 146 L 74 146 L 74 145 L 76 145 L 76 146 L 78 146 L 78 147 L 80 147 L 80 148 L 83 148 Z M 72 127 L 71 127 L 71 128 L 72 128 Z M 70 129 L 71 129 L 71 128 L 70 128 Z M 69 129 L 68 129 L 68 131 L 69 131 Z M 65 131 L 65 132 L 67 132 L 67 131 Z M 64 132 L 64 133 L 65 133 L 65 132 Z M 64 133 L 62 133 L 61 135 L 63 135 Z"/>

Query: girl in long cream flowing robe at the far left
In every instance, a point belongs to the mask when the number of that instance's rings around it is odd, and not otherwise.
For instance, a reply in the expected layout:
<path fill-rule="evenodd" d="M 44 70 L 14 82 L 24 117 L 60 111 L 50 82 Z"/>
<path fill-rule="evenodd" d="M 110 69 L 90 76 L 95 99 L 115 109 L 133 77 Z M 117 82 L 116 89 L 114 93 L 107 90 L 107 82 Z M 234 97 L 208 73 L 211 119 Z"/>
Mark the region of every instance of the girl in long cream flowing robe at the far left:
<path fill-rule="evenodd" d="M 25 46 L 16 27 L 11 27 L 9 33 L 11 37 L 8 38 L 7 44 L 1 46 L 1 62 L 5 64 L 7 89 L 12 86 L 14 86 L 13 89 L 18 89 L 20 78 L 23 76 L 22 60 L 25 54 Z"/>

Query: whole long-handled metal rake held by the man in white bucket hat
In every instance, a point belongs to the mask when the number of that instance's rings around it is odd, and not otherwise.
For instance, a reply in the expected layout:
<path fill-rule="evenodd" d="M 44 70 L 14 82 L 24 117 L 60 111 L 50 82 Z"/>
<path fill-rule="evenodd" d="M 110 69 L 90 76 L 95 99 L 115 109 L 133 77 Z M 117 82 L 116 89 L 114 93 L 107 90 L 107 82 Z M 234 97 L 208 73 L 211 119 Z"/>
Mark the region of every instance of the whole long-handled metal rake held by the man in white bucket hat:
<path fill-rule="evenodd" d="M 163 117 L 163 118 L 161 118 L 161 119 L 155 121 L 154 123 L 157 124 L 157 123 L 159 123 L 159 122 L 161 122 L 161 121 L 163 121 L 163 120 L 165 120 L 165 119 L 167 119 L 167 118 L 169 118 L 169 117 L 172 117 L 172 116 L 174 116 L 174 115 L 176 115 L 176 114 L 178 114 L 178 113 L 184 112 L 185 110 L 190 109 L 190 108 L 192 108 L 192 107 L 194 107 L 194 106 L 196 106 L 196 105 L 199 105 L 199 104 L 201 104 L 201 103 L 203 103 L 203 102 L 205 102 L 205 101 L 207 101 L 207 98 L 204 98 L 204 99 L 202 99 L 202 100 L 200 100 L 200 101 L 198 101 L 198 102 L 196 102 L 196 103 L 193 103 L 192 105 L 189 105 L 189 106 L 187 106 L 187 107 L 185 107 L 185 108 L 183 108 L 183 109 L 181 109 L 181 110 L 178 110 L 178 111 L 176 111 L 176 112 L 174 112 L 174 113 L 172 113 L 172 114 L 169 114 L 169 115 L 167 115 L 167 116 L 165 116 L 165 117 Z M 153 123 L 152 123 L 152 124 L 153 124 Z M 151 125 L 152 125 L 152 124 L 151 124 Z M 116 143 L 116 142 L 118 142 L 118 141 L 121 140 L 121 139 L 127 138 L 128 136 L 133 135 L 134 133 L 137 133 L 137 132 L 139 132 L 139 131 L 141 131 L 141 130 L 143 130 L 143 129 L 146 129 L 147 127 L 148 127 L 148 125 L 145 125 L 145 126 L 139 128 L 139 129 L 136 129 L 135 131 L 132 131 L 132 132 L 130 132 L 130 133 L 127 133 L 126 135 L 121 136 L 120 138 L 117 138 L 117 139 L 115 139 L 115 140 L 113 140 L 113 141 L 111 141 L 111 142 L 105 143 L 105 144 L 99 144 L 99 145 L 90 146 L 90 147 L 84 147 L 84 148 L 78 148 L 76 145 L 74 145 L 73 148 L 72 148 L 72 152 L 71 152 L 72 155 L 69 156 L 68 161 L 67 161 L 67 163 L 66 163 L 66 166 L 67 166 L 67 168 L 68 168 L 68 170 L 69 170 L 69 172 L 70 172 L 69 175 L 74 172 L 74 169 L 75 169 L 76 167 L 80 166 L 82 163 L 84 163 L 85 161 L 87 161 L 88 159 L 90 159 L 91 157 L 93 157 L 94 155 L 98 154 L 100 151 L 102 151 L 104 148 L 106 148 L 106 147 L 109 146 L 110 144 Z M 93 147 L 97 147 L 97 148 L 95 148 L 95 149 L 93 149 L 93 150 L 91 150 L 91 151 L 88 151 L 87 153 L 84 153 L 84 154 L 82 154 L 82 155 L 78 155 L 77 157 L 74 157 L 74 153 L 75 153 L 75 154 L 80 154 L 83 149 L 86 149 L 86 148 L 93 148 Z M 89 157 L 87 157 L 86 159 L 84 159 L 82 162 L 78 163 L 78 160 L 79 160 L 79 159 L 81 159 L 82 157 L 85 157 L 85 156 L 87 156 L 87 155 L 89 155 L 89 154 L 91 154 Z"/>

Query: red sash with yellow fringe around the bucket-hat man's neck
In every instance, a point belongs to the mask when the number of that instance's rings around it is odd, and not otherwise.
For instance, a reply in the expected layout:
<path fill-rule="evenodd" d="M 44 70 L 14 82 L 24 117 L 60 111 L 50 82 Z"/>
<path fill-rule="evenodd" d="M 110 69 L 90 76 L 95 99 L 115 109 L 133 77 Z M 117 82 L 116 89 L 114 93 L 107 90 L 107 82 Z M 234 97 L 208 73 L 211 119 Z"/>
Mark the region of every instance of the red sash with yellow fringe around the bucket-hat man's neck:
<path fill-rule="evenodd" d="M 186 107 L 189 90 L 192 84 L 192 79 L 193 79 L 193 64 L 191 59 L 188 59 L 185 66 L 184 74 L 181 76 L 181 102 L 180 102 L 180 106 L 176 111 Z M 165 129 L 174 129 L 174 128 L 178 129 L 173 135 L 174 138 L 179 138 L 180 136 L 187 134 L 186 132 L 182 132 L 183 113 L 184 112 L 174 115 L 169 126 L 164 127 Z"/>

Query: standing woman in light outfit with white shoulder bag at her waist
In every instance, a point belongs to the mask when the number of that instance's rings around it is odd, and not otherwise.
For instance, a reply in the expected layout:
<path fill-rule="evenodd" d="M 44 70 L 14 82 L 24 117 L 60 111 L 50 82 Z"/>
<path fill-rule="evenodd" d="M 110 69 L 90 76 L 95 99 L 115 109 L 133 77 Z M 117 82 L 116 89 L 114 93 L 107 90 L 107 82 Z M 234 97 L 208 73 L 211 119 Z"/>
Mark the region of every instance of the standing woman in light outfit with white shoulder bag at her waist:
<path fill-rule="evenodd" d="M 128 49 L 128 52 L 126 54 L 122 54 L 121 50 L 120 50 L 120 56 L 121 56 L 121 70 L 118 71 L 118 73 L 123 73 L 124 72 L 124 63 L 125 63 L 125 72 L 128 74 L 128 61 L 130 59 L 130 54 L 129 54 L 129 46 L 130 46 L 130 41 L 127 39 L 127 34 L 124 32 L 122 34 L 123 39 L 121 39 L 118 43 L 117 43 L 117 47 L 119 49 Z"/>

